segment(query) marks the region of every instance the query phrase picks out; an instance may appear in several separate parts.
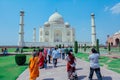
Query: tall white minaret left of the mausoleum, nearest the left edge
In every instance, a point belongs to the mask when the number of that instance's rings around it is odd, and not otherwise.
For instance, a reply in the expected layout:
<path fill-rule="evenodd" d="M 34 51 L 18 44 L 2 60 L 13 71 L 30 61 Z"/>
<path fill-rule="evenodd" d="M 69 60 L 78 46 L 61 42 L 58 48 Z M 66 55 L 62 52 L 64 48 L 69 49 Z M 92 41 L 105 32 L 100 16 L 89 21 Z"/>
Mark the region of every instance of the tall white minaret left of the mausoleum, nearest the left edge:
<path fill-rule="evenodd" d="M 20 11 L 19 46 L 24 46 L 24 11 Z"/>

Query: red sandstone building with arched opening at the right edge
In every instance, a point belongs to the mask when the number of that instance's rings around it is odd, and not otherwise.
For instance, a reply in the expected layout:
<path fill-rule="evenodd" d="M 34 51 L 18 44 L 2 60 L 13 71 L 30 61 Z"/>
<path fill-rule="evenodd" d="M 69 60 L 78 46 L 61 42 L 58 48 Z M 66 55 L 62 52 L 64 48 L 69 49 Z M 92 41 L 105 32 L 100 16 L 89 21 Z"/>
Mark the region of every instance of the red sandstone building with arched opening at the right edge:
<path fill-rule="evenodd" d="M 106 45 L 109 43 L 111 46 L 118 46 L 120 44 L 120 31 L 116 32 L 112 36 L 107 36 Z"/>

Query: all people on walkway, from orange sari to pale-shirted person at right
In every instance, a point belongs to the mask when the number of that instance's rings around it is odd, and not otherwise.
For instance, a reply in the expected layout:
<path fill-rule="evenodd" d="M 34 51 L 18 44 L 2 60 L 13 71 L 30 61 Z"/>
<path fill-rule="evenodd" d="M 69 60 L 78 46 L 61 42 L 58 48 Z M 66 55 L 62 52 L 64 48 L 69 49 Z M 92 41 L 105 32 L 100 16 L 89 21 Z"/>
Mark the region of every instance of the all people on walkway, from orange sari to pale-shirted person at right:
<path fill-rule="evenodd" d="M 89 80 L 92 80 L 94 71 L 97 74 L 98 80 L 102 80 L 99 66 L 99 54 L 95 49 L 92 49 L 92 54 L 89 56 L 90 60 L 90 74 Z M 66 57 L 65 57 L 66 56 Z M 57 67 L 58 58 L 65 59 L 67 61 L 67 73 L 68 78 L 70 79 L 72 73 L 75 73 L 75 61 L 76 58 L 73 55 L 73 50 L 69 50 L 67 53 L 64 48 L 44 48 L 39 51 L 33 51 L 33 57 L 29 61 L 29 70 L 30 70 L 30 80 L 36 80 L 39 76 L 39 68 L 47 68 L 47 63 L 53 64 L 53 67 Z M 51 62 L 52 61 L 52 62 Z"/>

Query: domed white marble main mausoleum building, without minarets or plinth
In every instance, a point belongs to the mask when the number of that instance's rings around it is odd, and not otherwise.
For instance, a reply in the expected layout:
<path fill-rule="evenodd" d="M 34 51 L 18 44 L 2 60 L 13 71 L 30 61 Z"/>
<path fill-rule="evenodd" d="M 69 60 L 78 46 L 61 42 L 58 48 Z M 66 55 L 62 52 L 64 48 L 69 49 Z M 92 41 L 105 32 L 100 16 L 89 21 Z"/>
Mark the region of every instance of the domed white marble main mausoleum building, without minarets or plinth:
<path fill-rule="evenodd" d="M 40 28 L 40 42 L 74 42 L 75 31 L 63 17 L 53 13 L 44 27 Z"/>

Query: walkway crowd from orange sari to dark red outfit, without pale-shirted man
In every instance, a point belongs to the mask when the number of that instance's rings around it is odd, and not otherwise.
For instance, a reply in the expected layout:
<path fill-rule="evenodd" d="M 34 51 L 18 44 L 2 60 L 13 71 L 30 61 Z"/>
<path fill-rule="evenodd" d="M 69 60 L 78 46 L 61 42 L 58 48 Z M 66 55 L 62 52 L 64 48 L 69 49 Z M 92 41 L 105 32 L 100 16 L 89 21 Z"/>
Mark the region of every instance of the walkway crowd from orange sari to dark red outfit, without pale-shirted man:
<path fill-rule="evenodd" d="M 72 48 L 43 48 L 40 50 L 33 50 L 33 57 L 30 58 L 29 70 L 30 80 L 36 80 L 39 76 L 39 69 L 47 69 L 47 64 L 53 64 L 57 67 L 58 59 L 67 61 L 67 72 L 70 78 L 71 71 L 75 72 L 75 57 L 72 54 Z M 66 59 L 65 59 L 66 58 Z M 71 67 L 72 65 L 72 67 Z"/>

